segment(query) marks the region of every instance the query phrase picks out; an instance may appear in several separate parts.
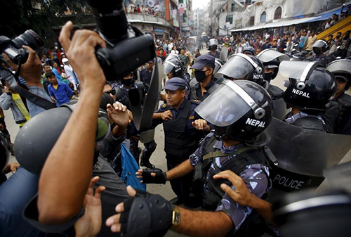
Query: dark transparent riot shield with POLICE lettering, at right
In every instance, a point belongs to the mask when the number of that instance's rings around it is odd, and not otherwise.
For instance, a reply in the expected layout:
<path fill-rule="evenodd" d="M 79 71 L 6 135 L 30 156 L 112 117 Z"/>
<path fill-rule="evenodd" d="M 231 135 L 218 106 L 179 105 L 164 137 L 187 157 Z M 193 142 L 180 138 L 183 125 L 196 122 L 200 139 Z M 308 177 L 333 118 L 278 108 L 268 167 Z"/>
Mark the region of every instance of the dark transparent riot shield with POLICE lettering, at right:
<path fill-rule="evenodd" d="M 324 169 L 338 165 L 351 148 L 351 136 L 315 132 L 274 117 L 266 132 L 271 137 L 267 146 L 275 156 L 269 159 L 270 178 L 280 191 L 317 188 Z"/>

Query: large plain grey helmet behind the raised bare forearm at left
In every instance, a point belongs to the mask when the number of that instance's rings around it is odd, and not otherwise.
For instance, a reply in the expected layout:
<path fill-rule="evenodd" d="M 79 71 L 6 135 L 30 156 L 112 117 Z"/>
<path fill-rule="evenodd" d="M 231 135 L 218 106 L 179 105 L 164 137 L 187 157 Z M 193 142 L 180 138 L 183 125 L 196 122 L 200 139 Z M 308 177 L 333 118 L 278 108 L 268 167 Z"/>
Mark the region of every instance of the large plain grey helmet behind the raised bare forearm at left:
<path fill-rule="evenodd" d="M 33 174 L 40 174 L 51 149 L 65 128 L 76 103 L 69 103 L 36 115 L 18 132 L 15 157 L 20 165 Z M 110 133 L 109 117 L 99 110 L 95 141 L 102 141 Z"/>

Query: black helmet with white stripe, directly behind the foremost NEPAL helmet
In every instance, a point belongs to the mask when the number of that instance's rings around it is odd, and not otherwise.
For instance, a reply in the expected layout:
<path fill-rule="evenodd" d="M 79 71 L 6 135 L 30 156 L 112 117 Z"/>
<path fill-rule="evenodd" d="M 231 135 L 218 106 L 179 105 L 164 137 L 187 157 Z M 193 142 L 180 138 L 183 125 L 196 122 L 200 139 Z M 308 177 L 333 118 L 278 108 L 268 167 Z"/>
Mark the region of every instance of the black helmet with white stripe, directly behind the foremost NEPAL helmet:
<path fill-rule="evenodd" d="M 227 63 L 216 73 L 216 77 L 226 79 L 246 79 L 257 84 L 263 84 L 265 70 L 263 63 L 255 56 L 237 53 L 227 60 Z"/>

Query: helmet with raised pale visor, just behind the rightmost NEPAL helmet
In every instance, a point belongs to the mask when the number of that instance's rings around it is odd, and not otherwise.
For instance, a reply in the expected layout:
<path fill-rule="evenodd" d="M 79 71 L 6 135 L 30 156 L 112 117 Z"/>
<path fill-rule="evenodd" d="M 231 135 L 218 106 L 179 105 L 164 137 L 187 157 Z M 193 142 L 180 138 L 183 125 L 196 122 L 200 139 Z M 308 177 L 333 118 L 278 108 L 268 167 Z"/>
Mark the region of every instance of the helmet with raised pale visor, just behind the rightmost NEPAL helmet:
<path fill-rule="evenodd" d="M 284 53 L 280 53 L 274 49 L 265 49 L 264 51 L 258 53 L 257 58 L 260 59 L 265 66 L 265 68 L 274 68 L 272 76 L 269 78 L 265 75 L 265 79 L 270 82 L 278 75 L 279 65 L 284 60 L 289 60 L 289 56 Z"/>

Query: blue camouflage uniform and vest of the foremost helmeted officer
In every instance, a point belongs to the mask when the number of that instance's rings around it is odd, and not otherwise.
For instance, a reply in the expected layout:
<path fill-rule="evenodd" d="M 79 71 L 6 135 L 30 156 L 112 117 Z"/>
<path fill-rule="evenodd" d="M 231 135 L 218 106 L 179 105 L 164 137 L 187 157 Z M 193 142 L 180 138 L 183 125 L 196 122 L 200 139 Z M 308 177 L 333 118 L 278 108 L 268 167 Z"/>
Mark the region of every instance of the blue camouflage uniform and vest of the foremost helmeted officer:
<path fill-rule="evenodd" d="M 213 153 L 213 158 L 205 160 L 205 155 L 210 152 Z M 215 155 L 216 153 L 221 153 L 221 155 Z M 255 225 L 255 228 L 248 229 L 248 226 L 251 226 L 249 219 L 255 219 L 254 223 L 260 223 L 263 220 L 258 217 L 256 212 L 253 212 L 251 207 L 239 205 L 227 193 L 220 192 L 220 181 L 212 177 L 219 172 L 232 170 L 244 180 L 251 193 L 261 198 L 272 187 L 269 178 L 269 164 L 263 151 L 247 146 L 245 143 L 225 147 L 223 141 L 217 141 L 211 132 L 204 138 L 199 148 L 190 155 L 189 159 L 195 170 L 195 183 L 197 183 L 196 177 L 199 177 L 197 171 L 204 172 L 204 177 L 199 180 L 203 188 L 201 197 L 204 197 L 204 210 L 225 212 L 232 219 L 234 224 L 232 233 L 235 232 L 235 236 L 241 236 L 243 233 L 244 236 L 246 234 L 247 236 L 260 236 L 262 229 L 257 228 L 258 226 Z M 232 184 L 228 185 L 235 188 Z M 232 235 L 228 234 L 227 236 Z"/>

